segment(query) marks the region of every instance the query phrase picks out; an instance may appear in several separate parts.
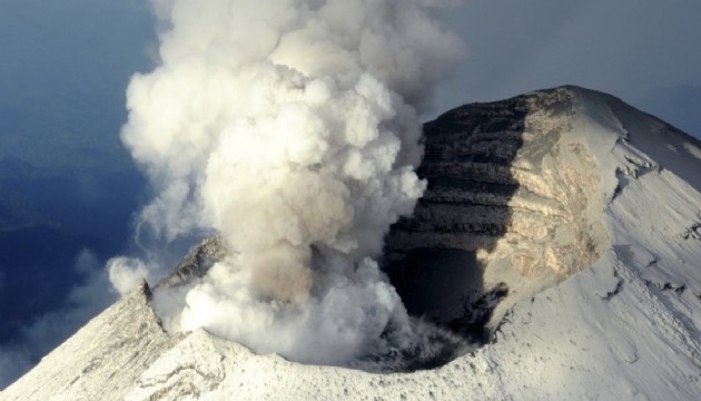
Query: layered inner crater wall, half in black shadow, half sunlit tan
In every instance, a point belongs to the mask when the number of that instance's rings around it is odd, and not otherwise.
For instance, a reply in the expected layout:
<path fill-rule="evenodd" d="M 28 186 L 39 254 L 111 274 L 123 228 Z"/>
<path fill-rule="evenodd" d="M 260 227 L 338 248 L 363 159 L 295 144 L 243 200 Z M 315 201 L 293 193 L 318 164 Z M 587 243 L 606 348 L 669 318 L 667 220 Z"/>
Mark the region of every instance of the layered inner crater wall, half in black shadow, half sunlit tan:
<path fill-rule="evenodd" d="M 484 293 L 506 286 L 523 299 L 599 258 L 608 245 L 601 173 L 573 131 L 576 109 L 576 91 L 559 88 L 466 105 L 426 124 L 418 174 L 428 189 L 386 239 L 388 270 L 409 310 L 450 321 Z M 445 287 L 423 271 L 456 250 L 463 257 L 441 268 L 472 268 L 472 284 L 450 290 L 443 304 L 436 294 L 431 305 L 412 302 L 427 284 Z"/>

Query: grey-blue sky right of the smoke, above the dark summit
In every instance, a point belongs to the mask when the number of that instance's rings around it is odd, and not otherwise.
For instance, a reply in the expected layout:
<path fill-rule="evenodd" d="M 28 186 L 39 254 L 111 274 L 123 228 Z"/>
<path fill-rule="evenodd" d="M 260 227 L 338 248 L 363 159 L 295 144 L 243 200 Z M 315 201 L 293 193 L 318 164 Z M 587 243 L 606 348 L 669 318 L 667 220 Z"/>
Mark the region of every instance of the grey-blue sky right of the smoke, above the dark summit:
<path fill-rule="evenodd" d="M 446 18 L 468 56 L 440 109 L 573 84 L 701 136 L 700 17 L 699 0 L 467 0 Z"/>

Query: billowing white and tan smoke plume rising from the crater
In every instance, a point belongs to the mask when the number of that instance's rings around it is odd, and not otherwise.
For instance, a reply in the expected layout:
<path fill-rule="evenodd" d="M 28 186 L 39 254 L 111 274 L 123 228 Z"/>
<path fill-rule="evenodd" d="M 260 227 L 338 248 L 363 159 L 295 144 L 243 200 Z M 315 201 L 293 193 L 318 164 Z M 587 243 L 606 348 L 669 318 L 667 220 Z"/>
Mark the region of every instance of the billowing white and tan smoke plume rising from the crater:
<path fill-rule="evenodd" d="M 438 1 L 154 2 L 161 65 L 122 131 L 158 193 L 142 219 L 229 250 L 158 295 L 167 326 L 316 363 L 413 346 L 373 258 L 424 190 L 418 114 L 462 53 Z"/>

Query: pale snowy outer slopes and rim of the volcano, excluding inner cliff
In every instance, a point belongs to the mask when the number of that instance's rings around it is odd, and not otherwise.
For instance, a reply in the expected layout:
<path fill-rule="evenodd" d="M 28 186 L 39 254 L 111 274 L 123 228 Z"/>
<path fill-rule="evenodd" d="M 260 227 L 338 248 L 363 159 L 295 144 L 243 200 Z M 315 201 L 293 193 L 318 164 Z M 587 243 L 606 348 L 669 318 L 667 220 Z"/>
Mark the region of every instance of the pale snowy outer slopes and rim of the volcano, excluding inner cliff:
<path fill-rule="evenodd" d="M 562 157 L 570 145 L 592 156 L 600 178 L 595 217 L 608 238 L 591 267 L 529 296 L 520 287 L 503 303 L 485 346 L 413 373 L 300 365 L 204 331 L 168 338 L 145 287 L 91 321 L 0 399 L 697 399 L 701 144 L 604 94 L 564 87 L 526 96 L 571 104 L 574 113 L 557 117 L 570 128 L 551 156 Z M 553 116 L 526 120 L 550 124 Z"/>

